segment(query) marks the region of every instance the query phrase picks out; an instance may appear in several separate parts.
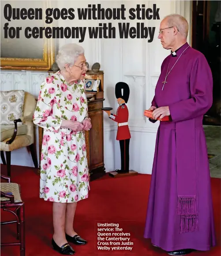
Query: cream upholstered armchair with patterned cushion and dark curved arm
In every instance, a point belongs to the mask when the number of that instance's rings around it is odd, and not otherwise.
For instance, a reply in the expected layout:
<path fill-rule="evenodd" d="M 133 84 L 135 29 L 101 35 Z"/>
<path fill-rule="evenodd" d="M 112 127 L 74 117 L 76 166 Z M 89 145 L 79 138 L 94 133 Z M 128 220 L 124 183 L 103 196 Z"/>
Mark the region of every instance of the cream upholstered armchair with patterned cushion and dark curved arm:
<path fill-rule="evenodd" d="M 20 100 L 20 102 L 15 105 L 15 99 L 18 99 L 22 93 L 23 100 Z M 11 112 L 10 110 L 7 110 L 10 106 L 13 108 Z M 22 90 L 1 92 L 1 114 L 3 114 L 4 117 L 4 109 L 6 109 L 5 112 L 8 111 L 8 113 L 7 118 L 5 118 L 4 121 L 1 120 L 0 150 L 2 163 L 4 165 L 7 163 L 7 176 L 9 177 L 11 177 L 11 151 L 21 147 L 28 147 L 30 149 L 34 167 L 38 168 L 37 155 L 34 146 L 34 123 L 32 121 L 35 107 L 35 97 L 30 93 Z M 16 116 L 14 114 L 16 111 L 20 111 L 20 116 L 19 114 L 17 115 L 20 118 L 13 120 L 13 117 Z M 4 158 L 4 151 L 6 152 L 6 161 Z"/>

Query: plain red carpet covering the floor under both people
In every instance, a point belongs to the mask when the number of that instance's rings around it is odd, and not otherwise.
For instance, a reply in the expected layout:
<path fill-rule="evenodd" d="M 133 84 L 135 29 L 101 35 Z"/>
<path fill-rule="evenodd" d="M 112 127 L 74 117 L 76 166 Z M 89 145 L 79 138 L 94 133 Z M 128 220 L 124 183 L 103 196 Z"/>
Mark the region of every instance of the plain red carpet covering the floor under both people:
<path fill-rule="evenodd" d="M 6 169 L 1 165 L 2 174 Z M 74 228 L 80 236 L 88 240 L 84 246 L 73 246 L 75 255 L 112 256 L 120 253 L 133 256 L 168 255 L 143 238 L 146 217 L 150 175 L 138 175 L 125 178 L 104 178 L 90 183 L 89 198 L 79 202 L 75 213 Z M 25 202 L 26 220 L 26 256 L 59 256 L 51 247 L 53 234 L 52 202 L 39 198 L 39 177 L 30 167 L 12 167 L 12 181 L 21 185 L 22 199 Z M 193 256 L 221 255 L 221 179 L 211 178 L 213 204 L 215 211 L 217 246 L 210 252 L 194 252 Z M 7 213 L 9 215 L 10 213 Z M 7 218 L 1 212 L 1 221 Z M 97 250 L 97 223 L 113 222 L 119 224 L 121 232 L 130 233 L 133 242 L 132 251 L 105 252 Z M 99 227 L 101 228 L 101 227 Z M 1 240 L 15 240 L 16 225 L 1 227 Z M 105 233 L 105 232 L 101 232 Z M 124 245 L 131 246 L 131 245 Z M 1 256 L 19 256 L 19 246 L 2 247 Z"/>

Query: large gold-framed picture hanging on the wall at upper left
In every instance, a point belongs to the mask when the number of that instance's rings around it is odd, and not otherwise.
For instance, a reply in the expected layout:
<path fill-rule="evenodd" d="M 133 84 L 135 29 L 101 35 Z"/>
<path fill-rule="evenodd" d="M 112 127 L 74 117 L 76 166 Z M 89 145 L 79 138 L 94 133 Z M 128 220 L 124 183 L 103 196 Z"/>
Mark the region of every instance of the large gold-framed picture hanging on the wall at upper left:
<path fill-rule="evenodd" d="M 4 17 L 4 7 L 6 4 L 11 5 L 12 8 L 41 8 L 42 13 L 35 12 L 35 15 L 42 19 L 12 19 L 8 21 Z M 1 21 L 1 42 L 0 42 L 0 66 L 1 69 L 12 70 L 42 70 L 47 71 L 50 69 L 55 61 L 56 41 L 54 39 L 34 38 L 33 28 L 36 35 L 41 33 L 37 31 L 39 27 L 53 27 L 54 24 L 45 23 L 45 10 L 51 8 L 49 1 L 25 1 L 25 0 L 2 0 L 0 2 L 0 21 Z M 5 36 L 4 26 L 8 23 L 7 36 Z M 9 30 L 14 27 L 21 27 L 19 32 L 19 38 L 10 38 Z M 32 35 L 30 38 L 26 38 L 25 29 L 30 27 L 28 34 Z"/>

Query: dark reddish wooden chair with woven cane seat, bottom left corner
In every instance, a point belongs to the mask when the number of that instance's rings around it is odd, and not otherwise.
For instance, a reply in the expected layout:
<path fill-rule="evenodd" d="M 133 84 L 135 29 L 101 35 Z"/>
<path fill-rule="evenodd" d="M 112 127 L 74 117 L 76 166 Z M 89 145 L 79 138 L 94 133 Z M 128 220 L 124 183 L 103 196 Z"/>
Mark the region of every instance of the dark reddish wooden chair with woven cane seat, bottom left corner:
<path fill-rule="evenodd" d="M 1 222 L 1 225 L 17 223 L 18 242 L 2 243 L 1 246 L 20 245 L 20 256 L 25 256 L 25 216 L 24 202 L 21 199 L 20 186 L 17 183 L 11 183 L 10 177 L 0 175 L 7 182 L 1 182 L 1 209 L 15 216 L 15 220 Z"/>

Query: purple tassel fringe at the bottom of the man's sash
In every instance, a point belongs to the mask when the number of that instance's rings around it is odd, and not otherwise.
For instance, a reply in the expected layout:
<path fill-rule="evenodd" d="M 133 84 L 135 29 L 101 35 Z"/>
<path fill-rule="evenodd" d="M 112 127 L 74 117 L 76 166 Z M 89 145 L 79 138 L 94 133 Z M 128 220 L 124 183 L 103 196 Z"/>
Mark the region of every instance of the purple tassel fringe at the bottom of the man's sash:
<path fill-rule="evenodd" d="M 198 213 L 195 196 L 179 196 L 176 214 L 181 215 L 180 233 L 198 231 Z"/>

